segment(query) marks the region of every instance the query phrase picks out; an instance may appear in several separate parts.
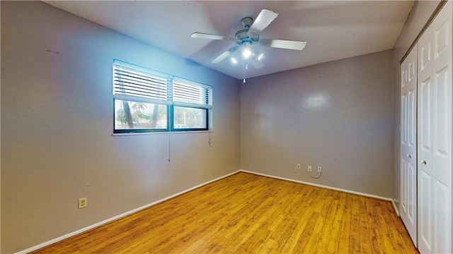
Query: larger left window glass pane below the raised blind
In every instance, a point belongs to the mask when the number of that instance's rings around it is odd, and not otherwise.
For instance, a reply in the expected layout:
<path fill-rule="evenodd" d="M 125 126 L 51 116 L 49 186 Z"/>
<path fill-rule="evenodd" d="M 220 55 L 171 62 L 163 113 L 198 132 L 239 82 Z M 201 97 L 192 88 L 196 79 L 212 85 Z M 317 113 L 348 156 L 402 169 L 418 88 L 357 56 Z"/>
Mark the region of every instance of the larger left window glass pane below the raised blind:
<path fill-rule="evenodd" d="M 115 130 L 166 129 L 167 106 L 115 99 Z"/>

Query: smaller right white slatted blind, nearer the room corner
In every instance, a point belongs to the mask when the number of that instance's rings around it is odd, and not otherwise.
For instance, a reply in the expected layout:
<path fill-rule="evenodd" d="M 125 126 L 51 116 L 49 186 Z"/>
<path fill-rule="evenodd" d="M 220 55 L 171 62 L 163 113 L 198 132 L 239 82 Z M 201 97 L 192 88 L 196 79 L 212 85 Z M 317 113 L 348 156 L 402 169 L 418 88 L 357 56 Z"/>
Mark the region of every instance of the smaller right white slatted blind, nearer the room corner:
<path fill-rule="evenodd" d="M 212 107 L 212 87 L 174 78 L 173 104 L 210 109 Z"/>

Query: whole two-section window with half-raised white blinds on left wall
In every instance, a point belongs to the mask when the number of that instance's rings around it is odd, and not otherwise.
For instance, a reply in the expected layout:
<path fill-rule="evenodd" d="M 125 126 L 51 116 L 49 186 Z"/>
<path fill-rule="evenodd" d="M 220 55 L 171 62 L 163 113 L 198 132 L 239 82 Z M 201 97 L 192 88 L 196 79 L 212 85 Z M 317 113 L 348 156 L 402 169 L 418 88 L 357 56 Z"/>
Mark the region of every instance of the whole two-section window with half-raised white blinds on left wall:
<path fill-rule="evenodd" d="M 113 63 L 113 133 L 207 131 L 212 87 Z"/>

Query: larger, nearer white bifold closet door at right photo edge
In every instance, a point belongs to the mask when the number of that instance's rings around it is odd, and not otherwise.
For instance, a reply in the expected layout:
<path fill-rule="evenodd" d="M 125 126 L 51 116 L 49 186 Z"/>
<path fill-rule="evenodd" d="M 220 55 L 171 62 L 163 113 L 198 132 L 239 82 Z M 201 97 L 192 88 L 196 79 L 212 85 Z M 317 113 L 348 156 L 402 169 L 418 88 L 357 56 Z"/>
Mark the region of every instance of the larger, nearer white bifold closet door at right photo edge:
<path fill-rule="evenodd" d="M 452 2 L 418 40 L 418 249 L 452 253 Z"/>

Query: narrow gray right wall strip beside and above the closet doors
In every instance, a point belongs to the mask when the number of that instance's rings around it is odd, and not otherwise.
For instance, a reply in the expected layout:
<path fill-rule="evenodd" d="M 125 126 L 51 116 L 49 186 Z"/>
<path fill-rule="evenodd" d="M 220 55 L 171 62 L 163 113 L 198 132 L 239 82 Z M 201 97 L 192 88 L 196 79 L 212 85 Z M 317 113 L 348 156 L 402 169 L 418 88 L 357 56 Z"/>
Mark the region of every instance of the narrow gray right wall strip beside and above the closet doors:
<path fill-rule="evenodd" d="M 400 73 L 399 63 L 403 58 L 404 54 L 411 47 L 412 42 L 417 37 L 418 33 L 422 30 L 423 25 L 428 21 L 431 14 L 435 11 L 435 8 L 439 4 L 439 1 L 415 1 L 411 13 L 406 20 L 406 23 L 401 30 L 401 33 L 396 40 L 395 44 L 395 57 L 394 57 L 394 152 L 393 152 L 393 169 L 394 169 L 394 192 L 392 198 L 396 203 L 396 207 L 399 207 L 399 162 L 400 162 Z"/>

